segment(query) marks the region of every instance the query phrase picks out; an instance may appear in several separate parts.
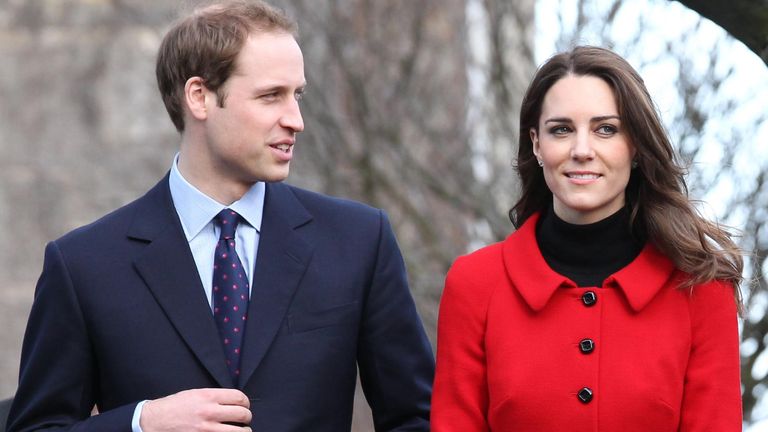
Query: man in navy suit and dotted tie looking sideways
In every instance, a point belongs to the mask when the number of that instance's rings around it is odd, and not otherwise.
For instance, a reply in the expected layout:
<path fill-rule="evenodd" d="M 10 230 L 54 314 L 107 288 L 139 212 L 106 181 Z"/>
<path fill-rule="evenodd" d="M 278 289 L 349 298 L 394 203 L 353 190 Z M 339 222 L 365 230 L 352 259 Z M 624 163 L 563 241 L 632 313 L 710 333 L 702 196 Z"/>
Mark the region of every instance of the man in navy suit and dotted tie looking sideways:
<path fill-rule="evenodd" d="M 304 129 L 294 35 L 246 1 L 166 35 L 179 154 L 48 244 L 9 431 L 348 431 L 357 368 L 376 430 L 429 430 L 433 357 L 386 216 L 280 183 Z"/>

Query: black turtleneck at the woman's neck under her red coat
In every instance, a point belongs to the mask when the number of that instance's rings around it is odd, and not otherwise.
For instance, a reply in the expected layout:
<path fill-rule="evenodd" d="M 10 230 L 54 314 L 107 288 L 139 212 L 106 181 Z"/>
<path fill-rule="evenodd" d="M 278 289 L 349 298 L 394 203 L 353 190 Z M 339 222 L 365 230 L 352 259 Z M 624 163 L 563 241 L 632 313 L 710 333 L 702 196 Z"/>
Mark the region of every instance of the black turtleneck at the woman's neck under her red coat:
<path fill-rule="evenodd" d="M 626 207 L 587 225 L 565 222 L 550 207 L 542 212 L 536 240 L 547 264 L 580 287 L 602 286 L 640 254 L 644 243 L 632 235 Z"/>

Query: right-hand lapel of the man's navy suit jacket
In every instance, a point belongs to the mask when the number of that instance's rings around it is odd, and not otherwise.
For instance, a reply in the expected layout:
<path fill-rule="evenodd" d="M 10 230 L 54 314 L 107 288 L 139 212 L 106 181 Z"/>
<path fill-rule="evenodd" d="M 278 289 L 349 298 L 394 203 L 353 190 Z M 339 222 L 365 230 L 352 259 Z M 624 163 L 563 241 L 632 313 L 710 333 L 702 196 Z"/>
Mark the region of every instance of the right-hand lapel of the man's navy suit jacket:
<path fill-rule="evenodd" d="M 312 246 L 297 228 L 311 219 L 288 186 L 267 184 L 240 365 L 240 387 L 245 386 L 264 358 L 309 265 Z"/>

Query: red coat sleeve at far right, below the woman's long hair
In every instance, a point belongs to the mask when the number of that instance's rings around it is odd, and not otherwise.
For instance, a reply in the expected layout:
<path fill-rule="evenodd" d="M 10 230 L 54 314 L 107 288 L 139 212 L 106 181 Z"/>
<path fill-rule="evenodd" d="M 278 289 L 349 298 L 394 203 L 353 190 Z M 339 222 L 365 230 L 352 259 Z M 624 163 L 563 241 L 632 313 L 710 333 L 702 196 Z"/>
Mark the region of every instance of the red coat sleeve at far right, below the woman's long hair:
<path fill-rule="evenodd" d="M 733 285 L 711 282 L 691 294 L 691 350 L 680 432 L 741 431 L 739 333 Z"/>

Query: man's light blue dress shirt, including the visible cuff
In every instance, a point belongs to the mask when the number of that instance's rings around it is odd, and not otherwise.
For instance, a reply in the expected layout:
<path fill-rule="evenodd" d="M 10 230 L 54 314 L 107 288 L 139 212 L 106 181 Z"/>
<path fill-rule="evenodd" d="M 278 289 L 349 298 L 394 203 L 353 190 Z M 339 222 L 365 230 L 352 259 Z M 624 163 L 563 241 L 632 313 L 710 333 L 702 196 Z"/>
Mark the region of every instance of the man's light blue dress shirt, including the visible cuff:
<path fill-rule="evenodd" d="M 235 232 L 235 249 L 248 277 L 248 288 L 251 289 L 253 269 L 256 264 L 256 253 L 259 250 L 259 232 L 261 218 L 264 213 L 265 185 L 263 182 L 254 184 L 239 200 L 226 206 L 200 192 L 181 175 L 178 167 L 178 154 L 173 158 L 169 176 L 171 198 L 176 213 L 181 220 L 181 227 L 187 237 L 189 249 L 195 259 L 197 273 L 205 290 L 205 298 L 213 311 L 213 258 L 216 243 L 219 241 L 219 228 L 213 218 L 225 208 L 236 211 L 243 220 L 237 225 Z M 140 402 L 133 413 L 131 427 L 133 432 L 143 432 L 139 425 L 141 410 L 146 401 Z"/>

